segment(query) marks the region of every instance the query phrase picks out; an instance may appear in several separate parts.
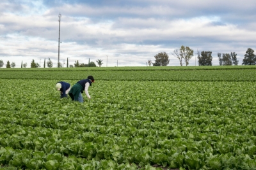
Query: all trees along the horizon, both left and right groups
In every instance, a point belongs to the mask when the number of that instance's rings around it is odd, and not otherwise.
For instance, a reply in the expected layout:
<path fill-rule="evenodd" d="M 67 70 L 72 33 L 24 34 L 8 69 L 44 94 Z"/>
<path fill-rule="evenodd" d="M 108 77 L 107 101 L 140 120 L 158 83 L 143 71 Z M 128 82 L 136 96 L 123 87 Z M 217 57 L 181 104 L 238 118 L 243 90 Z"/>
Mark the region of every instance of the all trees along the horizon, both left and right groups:
<path fill-rule="evenodd" d="M 194 50 L 189 48 L 189 46 L 181 46 L 180 48 L 177 48 L 173 50 L 172 55 L 179 59 L 180 66 L 183 66 L 186 64 L 186 66 L 189 65 L 189 60 L 194 55 Z M 212 52 L 210 51 L 202 51 L 196 52 L 197 59 L 198 59 L 198 66 L 212 66 Z M 170 62 L 169 56 L 166 52 L 158 53 L 155 57 L 155 62 L 153 63 L 152 60 L 148 60 L 146 62 L 147 66 L 167 66 Z M 237 60 L 237 54 L 236 52 L 230 52 L 230 53 L 218 53 L 218 59 L 219 59 L 219 65 L 220 66 L 237 66 L 239 63 L 239 60 Z M 100 66 L 102 66 L 103 60 L 98 59 L 96 62 Z M 244 54 L 244 59 L 242 65 L 256 65 L 256 55 L 254 54 L 254 50 L 252 48 L 248 48 L 246 50 L 246 53 Z M 4 66 L 3 60 L 0 60 L 0 68 Z M 12 62 L 10 64 L 9 60 L 7 61 L 6 68 L 15 67 L 15 62 Z M 49 58 L 47 62 L 45 62 L 44 59 L 44 68 L 45 67 L 51 68 L 53 66 L 52 60 Z M 21 68 L 27 67 L 27 63 L 22 64 L 21 62 Z M 38 68 L 40 65 L 35 62 L 35 60 L 32 60 L 31 68 Z M 58 62 L 58 67 L 63 67 L 60 62 Z M 68 67 L 68 59 L 67 59 L 67 67 Z M 73 65 L 69 65 L 69 67 L 73 67 Z M 91 61 L 89 59 L 88 64 L 79 63 L 78 60 L 75 61 L 74 67 L 96 67 L 95 62 Z"/>

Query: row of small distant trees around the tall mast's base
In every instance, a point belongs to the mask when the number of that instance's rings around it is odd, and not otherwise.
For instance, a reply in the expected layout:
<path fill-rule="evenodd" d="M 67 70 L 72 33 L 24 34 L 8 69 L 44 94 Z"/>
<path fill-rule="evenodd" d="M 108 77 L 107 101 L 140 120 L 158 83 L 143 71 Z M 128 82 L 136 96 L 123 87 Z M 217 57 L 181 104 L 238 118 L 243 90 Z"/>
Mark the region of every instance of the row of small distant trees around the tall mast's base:
<path fill-rule="evenodd" d="M 103 64 L 102 61 L 103 60 L 100 60 L 100 59 L 96 61 L 97 64 L 99 65 L 99 67 L 102 66 L 102 64 Z M 3 62 L 3 60 L 0 60 L 0 68 L 3 67 L 3 66 L 4 66 L 4 62 Z M 8 60 L 7 63 L 5 64 L 5 66 L 6 66 L 6 68 L 11 68 L 11 67 L 14 68 L 16 66 L 16 64 L 15 64 L 15 62 L 12 62 L 12 64 L 10 64 L 10 61 Z M 28 66 L 27 63 L 23 63 L 23 61 L 21 61 L 21 68 L 23 68 L 23 67 L 26 68 L 27 66 Z M 45 59 L 44 59 L 44 68 L 46 66 L 49 67 L 49 68 L 53 67 L 53 63 L 52 63 L 52 60 L 50 58 L 47 61 L 45 61 Z M 40 67 L 40 64 L 38 64 L 38 62 L 35 62 L 35 60 L 33 59 L 31 61 L 30 67 L 31 68 L 38 68 L 38 67 Z M 58 62 L 58 67 L 63 67 L 63 64 Z M 68 67 L 68 59 L 67 59 L 67 67 Z M 93 61 L 90 62 L 90 59 L 89 59 L 88 64 L 79 63 L 79 61 L 76 60 L 75 63 L 74 63 L 74 66 L 72 64 L 70 64 L 69 67 L 96 67 L 96 64 Z"/>

